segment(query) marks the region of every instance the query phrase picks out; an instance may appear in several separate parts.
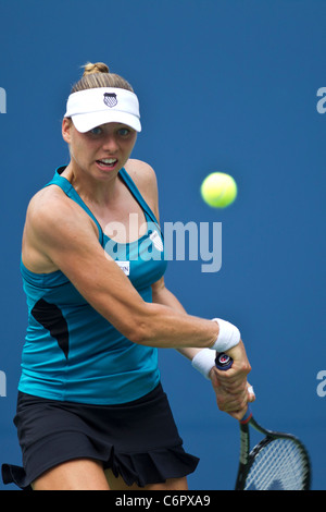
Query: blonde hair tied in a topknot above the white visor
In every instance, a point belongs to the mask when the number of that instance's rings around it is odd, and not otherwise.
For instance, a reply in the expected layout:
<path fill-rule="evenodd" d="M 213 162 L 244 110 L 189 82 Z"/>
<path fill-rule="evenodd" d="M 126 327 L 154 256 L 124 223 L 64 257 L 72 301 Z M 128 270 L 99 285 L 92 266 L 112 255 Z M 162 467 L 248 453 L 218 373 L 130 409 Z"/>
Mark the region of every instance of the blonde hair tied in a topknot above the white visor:
<path fill-rule="evenodd" d="M 73 85 L 72 94 L 96 87 L 116 87 L 134 93 L 131 85 L 122 76 L 110 73 L 109 66 L 103 62 L 87 62 L 82 78 Z"/>

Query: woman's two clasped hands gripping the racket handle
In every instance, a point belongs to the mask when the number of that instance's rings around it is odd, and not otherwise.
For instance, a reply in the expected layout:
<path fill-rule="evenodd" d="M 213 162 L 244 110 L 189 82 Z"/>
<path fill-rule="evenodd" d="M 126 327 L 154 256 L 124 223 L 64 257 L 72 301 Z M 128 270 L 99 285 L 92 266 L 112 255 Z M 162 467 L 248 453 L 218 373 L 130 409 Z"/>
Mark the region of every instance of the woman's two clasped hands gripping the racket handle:
<path fill-rule="evenodd" d="M 210 378 L 216 393 L 217 406 L 236 419 L 241 419 L 249 402 L 255 400 L 252 388 L 247 381 L 251 370 L 242 341 L 227 352 L 234 359 L 228 370 L 212 368 Z"/>

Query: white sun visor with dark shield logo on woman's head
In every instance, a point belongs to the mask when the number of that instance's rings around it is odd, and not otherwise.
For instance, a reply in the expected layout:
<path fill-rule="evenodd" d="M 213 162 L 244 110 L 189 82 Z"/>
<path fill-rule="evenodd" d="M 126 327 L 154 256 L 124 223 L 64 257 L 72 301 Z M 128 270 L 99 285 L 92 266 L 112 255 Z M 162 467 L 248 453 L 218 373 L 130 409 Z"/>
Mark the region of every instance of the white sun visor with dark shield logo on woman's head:
<path fill-rule="evenodd" d="M 116 87 L 95 87 L 71 94 L 64 117 L 72 118 L 80 133 L 105 123 L 123 123 L 141 131 L 137 96 Z"/>

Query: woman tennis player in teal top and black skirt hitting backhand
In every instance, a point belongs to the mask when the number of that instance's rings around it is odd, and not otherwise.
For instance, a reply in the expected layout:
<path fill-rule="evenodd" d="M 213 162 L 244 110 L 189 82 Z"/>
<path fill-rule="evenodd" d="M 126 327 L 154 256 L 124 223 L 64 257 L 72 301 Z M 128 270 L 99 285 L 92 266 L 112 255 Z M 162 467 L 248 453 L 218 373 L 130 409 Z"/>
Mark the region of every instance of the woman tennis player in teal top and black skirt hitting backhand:
<path fill-rule="evenodd" d="M 87 64 L 62 122 L 70 163 L 26 216 L 28 328 L 14 418 L 23 467 L 4 464 L 7 484 L 187 489 L 198 459 L 183 448 L 158 348 L 188 357 L 234 417 L 253 400 L 239 330 L 187 315 L 164 285 L 155 175 L 129 158 L 140 130 L 131 86 L 103 63 Z M 216 351 L 234 358 L 231 370 L 214 368 Z"/>

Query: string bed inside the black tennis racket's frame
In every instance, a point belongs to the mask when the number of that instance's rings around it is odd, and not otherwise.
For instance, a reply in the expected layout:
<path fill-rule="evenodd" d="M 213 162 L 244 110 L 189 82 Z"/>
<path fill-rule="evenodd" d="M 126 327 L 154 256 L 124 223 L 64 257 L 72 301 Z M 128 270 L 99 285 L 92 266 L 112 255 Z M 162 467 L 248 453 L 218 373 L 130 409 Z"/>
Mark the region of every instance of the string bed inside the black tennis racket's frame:
<path fill-rule="evenodd" d="M 309 472 L 304 454 L 294 441 L 275 439 L 255 455 L 246 490 L 300 490 Z"/>

